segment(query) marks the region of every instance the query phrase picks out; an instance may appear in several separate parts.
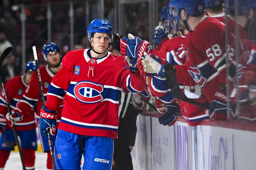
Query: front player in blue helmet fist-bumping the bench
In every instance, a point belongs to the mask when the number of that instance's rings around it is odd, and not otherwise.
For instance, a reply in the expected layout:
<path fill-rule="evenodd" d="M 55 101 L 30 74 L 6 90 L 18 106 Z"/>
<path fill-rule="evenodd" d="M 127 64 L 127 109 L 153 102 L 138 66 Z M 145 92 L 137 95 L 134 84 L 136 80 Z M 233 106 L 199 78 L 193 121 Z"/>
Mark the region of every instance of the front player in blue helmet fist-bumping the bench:
<path fill-rule="evenodd" d="M 123 56 L 107 52 L 113 41 L 108 20 L 94 19 L 87 32 L 90 49 L 70 51 L 63 58 L 39 119 L 44 136 L 47 128 L 54 131 L 56 109 L 65 96 L 54 150 L 56 168 L 61 170 L 80 169 L 83 154 L 83 169 L 110 170 L 122 87 L 145 90 L 143 76 L 132 73 L 129 65 L 126 69 Z"/>

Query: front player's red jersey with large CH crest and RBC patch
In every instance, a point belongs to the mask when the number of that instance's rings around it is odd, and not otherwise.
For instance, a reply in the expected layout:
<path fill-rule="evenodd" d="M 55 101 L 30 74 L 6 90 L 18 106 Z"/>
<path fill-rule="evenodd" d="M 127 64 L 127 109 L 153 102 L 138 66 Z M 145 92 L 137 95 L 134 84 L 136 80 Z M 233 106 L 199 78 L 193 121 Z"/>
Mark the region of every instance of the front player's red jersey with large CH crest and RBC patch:
<path fill-rule="evenodd" d="M 59 129 L 117 138 L 122 87 L 131 92 L 146 89 L 143 76 L 125 68 L 123 56 L 107 52 L 102 58 L 92 58 L 90 49 L 70 51 L 52 80 L 45 107 L 55 110 L 65 96 Z"/>

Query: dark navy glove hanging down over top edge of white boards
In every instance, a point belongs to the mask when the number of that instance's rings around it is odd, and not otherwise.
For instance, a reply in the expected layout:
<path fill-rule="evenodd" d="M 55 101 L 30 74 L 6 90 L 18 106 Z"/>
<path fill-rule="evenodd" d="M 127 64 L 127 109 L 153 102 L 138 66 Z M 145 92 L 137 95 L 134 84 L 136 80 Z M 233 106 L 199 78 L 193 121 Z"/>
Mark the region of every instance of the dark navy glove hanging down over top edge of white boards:
<path fill-rule="evenodd" d="M 164 114 L 158 118 L 158 122 L 164 126 L 173 125 L 180 114 L 180 108 L 174 103 L 166 105 L 163 103 L 157 107 L 157 111 Z"/>

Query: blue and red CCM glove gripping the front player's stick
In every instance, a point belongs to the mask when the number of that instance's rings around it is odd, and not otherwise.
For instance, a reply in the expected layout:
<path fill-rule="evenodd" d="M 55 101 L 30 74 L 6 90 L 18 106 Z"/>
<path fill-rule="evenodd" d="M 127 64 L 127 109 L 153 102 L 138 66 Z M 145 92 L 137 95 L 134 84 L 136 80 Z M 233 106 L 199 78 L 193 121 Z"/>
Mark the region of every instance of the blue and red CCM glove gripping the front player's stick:
<path fill-rule="evenodd" d="M 41 108 L 40 118 L 38 121 L 38 126 L 44 137 L 47 137 L 47 130 L 50 129 L 50 134 L 55 135 L 57 126 L 57 112 L 48 110 L 43 106 Z"/>

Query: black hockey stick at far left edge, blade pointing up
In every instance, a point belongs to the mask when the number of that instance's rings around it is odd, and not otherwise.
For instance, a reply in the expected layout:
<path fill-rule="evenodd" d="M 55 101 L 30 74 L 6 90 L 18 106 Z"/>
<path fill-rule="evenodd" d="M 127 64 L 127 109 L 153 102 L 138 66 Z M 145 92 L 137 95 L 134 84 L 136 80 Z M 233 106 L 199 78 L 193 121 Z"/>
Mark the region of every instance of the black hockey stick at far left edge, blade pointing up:
<path fill-rule="evenodd" d="M 9 55 L 10 53 L 12 52 L 12 47 L 8 47 L 4 50 L 4 52 L 1 54 L 0 56 L 0 70 L 1 70 L 1 67 L 2 67 L 2 64 L 4 62 L 4 59 L 7 57 L 7 55 Z M 0 74 L 0 81 L 1 81 L 1 84 L 2 84 L 2 87 L 3 87 L 3 91 L 4 91 L 4 97 L 5 97 L 5 102 L 6 102 L 6 106 L 7 106 L 7 109 L 8 109 L 8 112 L 9 112 L 9 116 L 12 115 L 12 111 L 11 111 L 11 106 L 10 106 L 10 102 L 8 100 L 8 97 L 7 97 L 7 92 L 6 92 L 6 89 L 5 89 L 5 86 L 4 86 L 4 82 L 2 80 L 2 76 Z M 17 130 L 15 128 L 15 124 L 14 124 L 14 120 L 10 119 L 11 122 L 12 122 L 12 130 L 13 130 L 13 133 L 14 133 L 14 137 L 15 137 L 15 141 L 16 141 L 16 144 L 18 146 L 18 150 L 19 150 L 19 153 L 20 153 L 20 160 L 21 160 L 21 163 L 22 163 L 22 168 L 23 170 L 26 170 L 26 167 L 25 167 L 25 163 L 24 163 L 24 159 L 23 159 L 23 155 L 22 155 L 22 152 L 21 152 L 21 147 L 20 147 L 20 141 L 18 139 L 18 134 L 17 134 Z"/>

